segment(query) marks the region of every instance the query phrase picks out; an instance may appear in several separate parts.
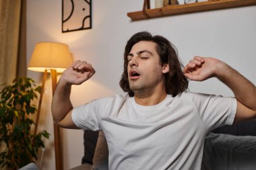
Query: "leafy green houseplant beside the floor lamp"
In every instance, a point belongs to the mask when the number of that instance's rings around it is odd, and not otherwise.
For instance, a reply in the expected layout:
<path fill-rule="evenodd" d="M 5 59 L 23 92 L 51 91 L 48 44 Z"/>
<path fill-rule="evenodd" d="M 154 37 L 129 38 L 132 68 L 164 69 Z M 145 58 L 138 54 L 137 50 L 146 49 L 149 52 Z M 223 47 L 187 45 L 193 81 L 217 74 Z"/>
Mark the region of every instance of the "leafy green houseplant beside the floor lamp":
<path fill-rule="evenodd" d="M 34 134 L 32 117 L 36 113 L 37 93 L 41 87 L 27 77 L 13 80 L 1 92 L 0 101 L 0 165 L 18 169 L 37 159 L 38 149 L 44 147 L 45 130 Z M 0 168 L 1 169 L 1 168 Z"/>

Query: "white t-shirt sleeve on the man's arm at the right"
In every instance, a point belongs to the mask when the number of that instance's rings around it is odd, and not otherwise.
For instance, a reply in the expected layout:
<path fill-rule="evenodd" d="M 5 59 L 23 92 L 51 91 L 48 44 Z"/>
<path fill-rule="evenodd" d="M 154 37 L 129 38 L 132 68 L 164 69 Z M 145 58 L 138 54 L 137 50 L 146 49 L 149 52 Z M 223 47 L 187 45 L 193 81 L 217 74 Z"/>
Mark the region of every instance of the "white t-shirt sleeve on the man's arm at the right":
<path fill-rule="evenodd" d="M 236 98 L 203 93 L 187 93 L 201 120 L 209 130 L 232 124 L 236 115 Z"/>

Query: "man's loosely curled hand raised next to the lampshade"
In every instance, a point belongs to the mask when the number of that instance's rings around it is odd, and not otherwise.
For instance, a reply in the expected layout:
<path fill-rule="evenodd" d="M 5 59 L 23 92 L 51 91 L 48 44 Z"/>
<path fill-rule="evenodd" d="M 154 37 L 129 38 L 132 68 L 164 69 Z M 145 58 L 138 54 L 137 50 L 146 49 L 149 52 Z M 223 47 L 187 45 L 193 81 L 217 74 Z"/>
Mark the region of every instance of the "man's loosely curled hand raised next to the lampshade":
<path fill-rule="evenodd" d="M 70 85 L 80 85 L 94 75 L 95 70 L 86 61 L 76 60 L 61 76 L 61 80 Z"/>

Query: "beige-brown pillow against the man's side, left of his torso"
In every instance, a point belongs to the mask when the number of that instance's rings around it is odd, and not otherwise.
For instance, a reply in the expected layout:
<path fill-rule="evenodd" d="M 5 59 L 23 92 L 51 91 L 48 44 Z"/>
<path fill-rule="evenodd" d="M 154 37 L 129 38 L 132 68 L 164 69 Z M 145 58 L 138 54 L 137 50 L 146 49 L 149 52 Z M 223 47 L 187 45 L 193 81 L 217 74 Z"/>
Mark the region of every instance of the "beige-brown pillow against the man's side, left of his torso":
<path fill-rule="evenodd" d="M 108 144 L 102 131 L 98 133 L 98 141 L 92 163 L 91 170 L 108 170 Z"/>

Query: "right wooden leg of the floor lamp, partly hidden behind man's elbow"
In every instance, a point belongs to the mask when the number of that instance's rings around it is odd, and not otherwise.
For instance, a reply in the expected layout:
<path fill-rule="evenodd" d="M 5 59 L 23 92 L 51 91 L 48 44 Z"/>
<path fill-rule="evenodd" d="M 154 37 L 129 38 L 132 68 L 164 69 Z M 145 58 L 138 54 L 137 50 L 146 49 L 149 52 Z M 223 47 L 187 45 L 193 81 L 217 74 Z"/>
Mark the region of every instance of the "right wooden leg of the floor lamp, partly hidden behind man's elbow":
<path fill-rule="evenodd" d="M 53 95 L 57 86 L 57 73 L 56 70 L 51 69 Z M 54 142 L 55 142 L 55 165 L 56 170 L 63 170 L 63 153 L 61 143 L 61 129 L 57 124 L 53 124 L 54 128 Z"/>

